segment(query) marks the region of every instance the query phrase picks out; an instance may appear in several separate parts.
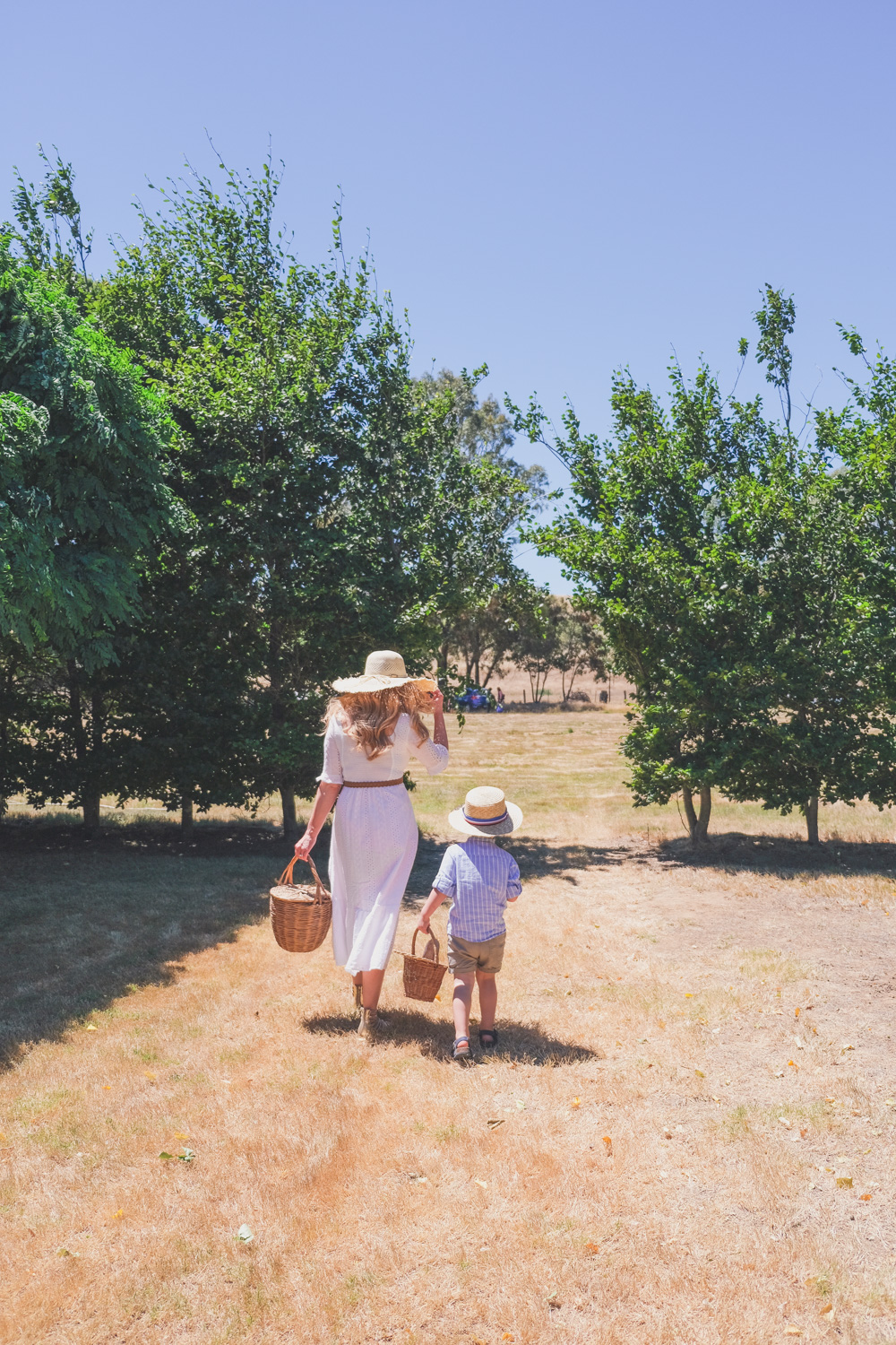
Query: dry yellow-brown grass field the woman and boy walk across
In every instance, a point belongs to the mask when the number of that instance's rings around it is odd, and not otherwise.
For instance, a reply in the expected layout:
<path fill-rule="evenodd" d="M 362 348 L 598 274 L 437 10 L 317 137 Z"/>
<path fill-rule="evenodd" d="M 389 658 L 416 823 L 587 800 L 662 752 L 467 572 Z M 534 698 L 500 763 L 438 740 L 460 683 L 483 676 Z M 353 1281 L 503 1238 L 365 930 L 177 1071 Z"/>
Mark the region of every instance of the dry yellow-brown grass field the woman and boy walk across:
<path fill-rule="evenodd" d="M 449 806 L 527 818 L 470 1071 L 447 982 L 395 956 L 367 1050 L 328 946 L 277 948 L 274 831 L 7 824 L 0 1341 L 895 1340 L 892 819 L 813 853 L 721 803 L 695 858 L 623 722 L 472 718 L 418 781 L 399 951 Z"/>

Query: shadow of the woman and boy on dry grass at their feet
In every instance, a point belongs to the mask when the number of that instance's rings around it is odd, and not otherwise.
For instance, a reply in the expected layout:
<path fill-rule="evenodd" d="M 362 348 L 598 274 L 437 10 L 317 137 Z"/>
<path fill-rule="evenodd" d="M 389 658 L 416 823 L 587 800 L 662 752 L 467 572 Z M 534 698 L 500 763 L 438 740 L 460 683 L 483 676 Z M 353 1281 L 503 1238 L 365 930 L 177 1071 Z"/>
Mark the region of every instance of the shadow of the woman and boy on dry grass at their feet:
<path fill-rule="evenodd" d="M 441 1060 L 454 1065 L 451 1048 L 454 1045 L 454 1024 L 427 1018 L 414 1009 L 392 1009 L 384 1011 L 384 1018 L 390 1022 L 388 1032 L 382 1040 L 396 1046 L 416 1042 L 420 1054 L 430 1060 Z M 322 1037 L 344 1037 L 357 1030 L 357 1020 L 349 1014 L 314 1014 L 305 1018 L 305 1030 Z M 528 1065 L 556 1065 L 582 1064 L 587 1060 L 603 1060 L 602 1050 L 592 1050 L 575 1042 L 562 1041 L 551 1033 L 544 1032 L 537 1024 L 506 1022 L 498 1026 L 498 1045 L 486 1052 L 478 1048 L 476 1030 L 472 1032 L 470 1044 L 474 1053 L 481 1060 L 516 1061 Z"/>

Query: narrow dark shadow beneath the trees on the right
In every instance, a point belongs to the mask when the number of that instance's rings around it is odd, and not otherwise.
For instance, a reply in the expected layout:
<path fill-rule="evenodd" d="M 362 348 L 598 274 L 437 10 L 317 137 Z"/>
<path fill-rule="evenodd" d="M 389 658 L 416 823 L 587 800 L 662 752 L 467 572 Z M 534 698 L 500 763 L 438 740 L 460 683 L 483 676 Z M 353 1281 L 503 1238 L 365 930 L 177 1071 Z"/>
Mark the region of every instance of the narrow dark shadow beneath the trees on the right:
<path fill-rule="evenodd" d="M 778 878 L 798 874 L 868 873 L 896 874 L 896 845 L 885 841 L 837 841 L 810 846 L 789 837 L 746 835 L 728 831 L 712 835 L 693 850 L 686 838 L 665 841 L 658 847 L 665 865 L 680 869 L 721 869 L 725 873 L 767 873 Z"/>

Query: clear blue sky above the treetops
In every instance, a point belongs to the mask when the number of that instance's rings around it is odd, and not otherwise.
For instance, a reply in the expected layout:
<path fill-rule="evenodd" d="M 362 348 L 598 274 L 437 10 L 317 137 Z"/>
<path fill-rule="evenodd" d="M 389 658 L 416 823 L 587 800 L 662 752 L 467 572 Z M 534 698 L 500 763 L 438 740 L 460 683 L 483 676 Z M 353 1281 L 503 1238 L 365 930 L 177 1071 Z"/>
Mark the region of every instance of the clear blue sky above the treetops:
<path fill-rule="evenodd" d="M 604 430 L 619 364 L 660 386 L 674 347 L 733 378 L 766 280 L 797 297 L 815 401 L 842 399 L 836 319 L 896 347 L 892 0 L 4 9 L 9 183 L 55 143 L 98 235 L 133 238 L 146 178 L 214 167 L 206 128 L 235 167 L 270 134 L 300 256 L 324 256 L 341 186 L 419 370 L 488 362 L 489 390 L 553 416 L 568 394 Z"/>

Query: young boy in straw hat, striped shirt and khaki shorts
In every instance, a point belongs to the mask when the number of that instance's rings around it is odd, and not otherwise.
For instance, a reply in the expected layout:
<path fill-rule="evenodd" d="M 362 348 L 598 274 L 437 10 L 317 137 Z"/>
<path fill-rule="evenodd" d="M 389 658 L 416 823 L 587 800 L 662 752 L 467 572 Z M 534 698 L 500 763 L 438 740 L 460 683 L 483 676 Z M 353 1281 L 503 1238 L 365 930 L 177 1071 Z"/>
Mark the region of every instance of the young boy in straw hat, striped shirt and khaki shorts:
<path fill-rule="evenodd" d="M 480 990 L 480 1045 L 494 1046 L 494 1011 L 498 1002 L 496 974 L 501 970 L 506 927 L 504 908 L 523 890 L 516 859 L 500 850 L 494 837 L 509 835 L 523 822 L 516 803 L 501 790 L 482 785 L 470 790 L 462 808 L 449 814 L 455 831 L 467 839 L 450 845 L 420 911 L 418 929 L 430 931 L 430 916 L 446 897 L 449 913 L 449 967 L 454 976 L 454 1059 L 469 1064 L 470 1002 L 473 985 Z"/>

